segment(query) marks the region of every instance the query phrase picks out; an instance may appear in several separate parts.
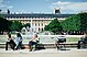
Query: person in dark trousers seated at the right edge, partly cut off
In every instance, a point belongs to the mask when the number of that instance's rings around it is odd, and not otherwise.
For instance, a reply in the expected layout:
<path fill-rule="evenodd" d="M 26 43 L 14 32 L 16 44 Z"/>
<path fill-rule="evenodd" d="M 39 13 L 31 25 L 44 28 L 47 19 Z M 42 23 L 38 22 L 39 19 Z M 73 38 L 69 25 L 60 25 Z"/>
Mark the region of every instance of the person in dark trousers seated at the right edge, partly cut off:
<path fill-rule="evenodd" d="M 80 37 L 80 41 L 78 41 L 77 48 L 85 48 L 85 44 L 87 44 L 87 32 L 84 33 L 84 36 Z"/>

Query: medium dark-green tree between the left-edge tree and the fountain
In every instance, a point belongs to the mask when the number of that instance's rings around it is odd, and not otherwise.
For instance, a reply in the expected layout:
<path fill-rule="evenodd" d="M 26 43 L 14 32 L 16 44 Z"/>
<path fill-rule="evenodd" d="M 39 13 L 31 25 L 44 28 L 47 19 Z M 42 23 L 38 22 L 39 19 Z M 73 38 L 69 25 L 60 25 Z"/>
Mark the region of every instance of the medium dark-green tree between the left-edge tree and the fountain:
<path fill-rule="evenodd" d="M 13 21 L 12 25 L 10 26 L 11 31 L 21 31 L 21 29 L 23 27 L 22 23 L 19 21 Z"/>

